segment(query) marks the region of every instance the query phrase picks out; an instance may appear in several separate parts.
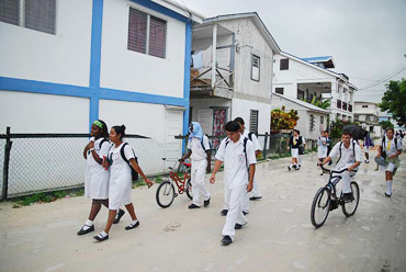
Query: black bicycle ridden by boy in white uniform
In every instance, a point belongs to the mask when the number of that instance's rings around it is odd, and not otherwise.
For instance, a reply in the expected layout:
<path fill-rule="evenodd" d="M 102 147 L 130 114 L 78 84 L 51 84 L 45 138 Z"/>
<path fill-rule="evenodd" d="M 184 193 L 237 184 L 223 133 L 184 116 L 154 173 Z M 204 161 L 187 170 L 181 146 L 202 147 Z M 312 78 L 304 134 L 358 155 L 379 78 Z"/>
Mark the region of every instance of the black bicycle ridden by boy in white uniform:
<path fill-rule="evenodd" d="M 336 185 L 342 178 L 341 175 L 335 174 L 348 171 L 347 168 L 340 171 L 336 171 L 328 170 L 323 166 L 320 167 L 323 171 L 328 172 L 330 177 L 328 179 L 328 183 L 317 191 L 313 200 L 311 219 L 315 228 L 322 227 L 323 224 L 326 222 L 329 212 L 338 208 L 338 206 L 341 206 L 342 213 L 346 215 L 346 217 L 352 216 L 356 213 L 358 204 L 360 202 L 360 188 L 358 186 L 358 183 L 356 181 L 351 181 L 350 183 L 352 192 L 351 200 L 343 200 L 342 192 L 340 194 L 340 197 L 337 197 Z"/>

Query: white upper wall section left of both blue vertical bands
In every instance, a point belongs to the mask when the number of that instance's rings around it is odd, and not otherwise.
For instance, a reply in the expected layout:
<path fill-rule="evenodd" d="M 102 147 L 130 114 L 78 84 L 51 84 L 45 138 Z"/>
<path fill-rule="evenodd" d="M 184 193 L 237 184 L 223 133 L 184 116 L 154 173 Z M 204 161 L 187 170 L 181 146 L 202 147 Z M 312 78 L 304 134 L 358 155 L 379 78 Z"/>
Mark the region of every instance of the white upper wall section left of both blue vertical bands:
<path fill-rule="evenodd" d="M 56 35 L 0 22 L 0 76 L 89 86 L 92 1 L 57 1 Z"/>

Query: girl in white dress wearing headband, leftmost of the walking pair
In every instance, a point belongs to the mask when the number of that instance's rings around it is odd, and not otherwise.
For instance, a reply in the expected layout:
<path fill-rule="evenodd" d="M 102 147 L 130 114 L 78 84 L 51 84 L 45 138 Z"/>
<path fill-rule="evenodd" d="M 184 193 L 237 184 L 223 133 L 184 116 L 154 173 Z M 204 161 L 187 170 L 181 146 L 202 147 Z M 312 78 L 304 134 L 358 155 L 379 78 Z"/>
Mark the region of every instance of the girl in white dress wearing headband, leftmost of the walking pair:
<path fill-rule="evenodd" d="M 93 122 L 90 128 L 90 140 L 84 147 L 83 157 L 87 159 L 84 174 L 84 196 L 92 199 L 90 215 L 78 235 L 94 231 L 93 220 L 99 214 L 101 205 L 109 208 L 109 173 L 102 167 L 103 158 L 108 157 L 110 143 L 109 131 L 101 120 Z"/>

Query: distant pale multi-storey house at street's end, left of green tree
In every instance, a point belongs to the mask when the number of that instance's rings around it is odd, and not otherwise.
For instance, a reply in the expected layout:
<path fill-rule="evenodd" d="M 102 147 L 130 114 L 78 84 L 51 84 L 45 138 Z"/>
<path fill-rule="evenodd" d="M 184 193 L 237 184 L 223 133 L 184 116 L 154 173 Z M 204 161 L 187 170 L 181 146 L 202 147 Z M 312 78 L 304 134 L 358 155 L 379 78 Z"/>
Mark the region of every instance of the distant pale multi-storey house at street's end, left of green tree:
<path fill-rule="evenodd" d="M 356 101 L 354 121 L 359 122 L 372 137 L 382 136 L 382 127 L 377 124 L 380 121 L 377 103 Z"/>

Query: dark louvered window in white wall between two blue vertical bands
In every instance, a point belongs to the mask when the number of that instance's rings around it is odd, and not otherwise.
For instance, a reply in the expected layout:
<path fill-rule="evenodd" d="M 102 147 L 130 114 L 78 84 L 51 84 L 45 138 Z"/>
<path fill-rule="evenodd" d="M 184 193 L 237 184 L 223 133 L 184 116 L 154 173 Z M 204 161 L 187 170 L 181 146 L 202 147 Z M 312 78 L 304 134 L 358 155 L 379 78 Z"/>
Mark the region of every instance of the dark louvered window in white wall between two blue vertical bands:
<path fill-rule="evenodd" d="M 165 58 L 167 50 L 167 22 L 129 8 L 128 50 Z"/>

